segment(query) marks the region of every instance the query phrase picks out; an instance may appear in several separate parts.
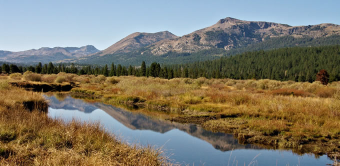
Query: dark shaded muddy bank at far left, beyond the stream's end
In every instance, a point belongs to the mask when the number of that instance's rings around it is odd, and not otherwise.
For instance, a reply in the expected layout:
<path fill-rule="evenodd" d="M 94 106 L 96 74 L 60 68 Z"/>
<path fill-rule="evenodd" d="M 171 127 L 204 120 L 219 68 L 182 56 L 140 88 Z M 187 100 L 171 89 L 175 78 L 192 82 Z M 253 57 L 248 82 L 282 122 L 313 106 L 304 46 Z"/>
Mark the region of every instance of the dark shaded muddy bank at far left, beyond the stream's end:
<path fill-rule="evenodd" d="M 9 82 L 12 86 L 22 87 L 26 90 L 38 92 L 54 92 L 54 91 L 70 91 L 73 87 L 77 87 L 74 83 L 32 83 L 32 82 Z"/>

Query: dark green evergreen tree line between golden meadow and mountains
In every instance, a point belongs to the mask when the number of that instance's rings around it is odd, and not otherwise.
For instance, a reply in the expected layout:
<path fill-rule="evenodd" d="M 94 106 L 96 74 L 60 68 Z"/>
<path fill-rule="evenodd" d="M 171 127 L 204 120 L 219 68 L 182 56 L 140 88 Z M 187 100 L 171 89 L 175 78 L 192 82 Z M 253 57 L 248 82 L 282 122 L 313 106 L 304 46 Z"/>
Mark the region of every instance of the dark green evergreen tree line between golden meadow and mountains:
<path fill-rule="evenodd" d="M 340 45 L 319 47 L 288 47 L 272 50 L 244 52 L 215 60 L 197 61 L 185 64 L 161 65 L 153 62 L 146 66 L 125 66 L 113 62 L 110 66 L 64 65 L 38 63 L 35 66 L 16 66 L 2 64 L 2 72 L 25 72 L 26 70 L 51 74 L 58 72 L 76 74 L 103 74 L 105 76 L 152 76 L 161 78 L 206 77 L 232 79 L 276 79 L 309 81 L 315 80 L 316 73 L 325 69 L 329 81 L 340 80 Z"/>

